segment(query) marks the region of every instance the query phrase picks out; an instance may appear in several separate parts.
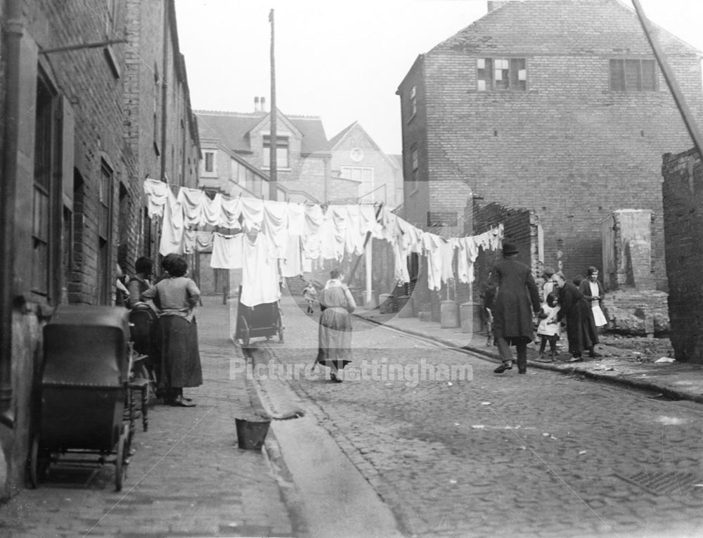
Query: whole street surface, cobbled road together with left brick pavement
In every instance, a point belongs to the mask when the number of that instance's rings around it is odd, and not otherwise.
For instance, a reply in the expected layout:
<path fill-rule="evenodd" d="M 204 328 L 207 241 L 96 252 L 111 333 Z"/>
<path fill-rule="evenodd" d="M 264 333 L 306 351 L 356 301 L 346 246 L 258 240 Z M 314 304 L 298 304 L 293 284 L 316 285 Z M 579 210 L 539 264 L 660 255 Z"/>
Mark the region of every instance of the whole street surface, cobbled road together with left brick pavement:
<path fill-rule="evenodd" d="M 327 372 L 309 371 L 317 314 L 290 297 L 282 306 L 285 342 L 255 339 L 261 375 L 246 381 L 228 308 L 206 297 L 205 385 L 187 394 L 198 406 L 153 406 L 121 493 L 111 468 L 92 477 L 52 471 L 40 489 L 0 506 L 0 534 L 703 533 L 699 404 L 537 369 L 498 376 L 490 361 L 361 319 L 354 369 L 330 383 Z M 281 420 L 265 451 L 240 450 L 234 417 L 259 405 Z"/>

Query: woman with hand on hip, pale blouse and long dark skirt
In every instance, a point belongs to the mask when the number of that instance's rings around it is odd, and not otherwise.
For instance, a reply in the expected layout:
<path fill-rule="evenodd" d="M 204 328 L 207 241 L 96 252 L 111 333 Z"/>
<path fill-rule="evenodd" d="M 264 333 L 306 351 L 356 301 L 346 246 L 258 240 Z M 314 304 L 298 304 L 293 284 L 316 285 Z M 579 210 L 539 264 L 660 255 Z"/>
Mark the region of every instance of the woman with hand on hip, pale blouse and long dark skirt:
<path fill-rule="evenodd" d="M 202 385 L 195 324 L 200 290 L 186 276 L 188 265 L 183 257 L 166 257 L 162 264 L 167 278 L 141 295 L 143 299 L 153 299 L 159 311 L 155 338 L 160 361 L 159 388 L 165 403 L 191 407 L 195 404 L 183 397 L 183 388 Z"/>

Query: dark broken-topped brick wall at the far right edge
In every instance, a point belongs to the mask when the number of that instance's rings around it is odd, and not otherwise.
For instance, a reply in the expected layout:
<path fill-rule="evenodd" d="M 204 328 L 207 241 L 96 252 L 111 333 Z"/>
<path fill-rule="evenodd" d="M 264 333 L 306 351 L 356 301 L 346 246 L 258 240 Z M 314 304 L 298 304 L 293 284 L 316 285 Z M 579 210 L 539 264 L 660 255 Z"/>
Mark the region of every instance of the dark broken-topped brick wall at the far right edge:
<path fill-rule="evenodd" d="M 664 234 L 671 345 L 676 359 L 703 363 L 703 166 L 695 150 L 664 155 Z"/>

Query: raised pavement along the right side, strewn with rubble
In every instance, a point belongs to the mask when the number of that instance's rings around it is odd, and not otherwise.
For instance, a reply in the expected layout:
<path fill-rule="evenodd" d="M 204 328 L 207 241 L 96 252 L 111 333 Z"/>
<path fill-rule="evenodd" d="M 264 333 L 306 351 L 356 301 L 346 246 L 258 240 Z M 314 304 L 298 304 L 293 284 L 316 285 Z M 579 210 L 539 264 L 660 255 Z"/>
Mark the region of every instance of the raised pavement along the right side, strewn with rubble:
<path fill-rule="evenodd" d="M 398 313 L 380 314 L 378 308 L 357 309 L 356 316 L 375 324 L 396 328 L 404 333 L 430 338 L 448 347 L 464 348 L 486 359 L 500 361 L 496 347 L 486 345 L 486 335 L 463 333 L 461 328 L 442 328 L 434 321 L 421 321 L 416 317 L 401 317 Z M 609 340 L 603 338 L 602 340 Z M 554 362 L 538 360 L 538 350 L 528 346 L 528 367 L 559 371 L 568 375 L 581 375 L 607 383 L 617 383 L 631 388 L 656 392 L 667 399 L 684 399 L 703 403 L 703 365 L 680 361 L 655 362 L 645 360 L 638 349 L 628 349 L 626 339 L 617 347 L 600 344 L 598 358 L 584 358 L 581 362 L 569 363 L 569 354 L 564 350 Z M 562 340 L 565 345 L 566 342 Z M 549 347 L 547 347 L 549 349 Z M 661 357 L 657 357 L 661 358 Z M 514 373 L 516 370 L 513 369 Z"/>

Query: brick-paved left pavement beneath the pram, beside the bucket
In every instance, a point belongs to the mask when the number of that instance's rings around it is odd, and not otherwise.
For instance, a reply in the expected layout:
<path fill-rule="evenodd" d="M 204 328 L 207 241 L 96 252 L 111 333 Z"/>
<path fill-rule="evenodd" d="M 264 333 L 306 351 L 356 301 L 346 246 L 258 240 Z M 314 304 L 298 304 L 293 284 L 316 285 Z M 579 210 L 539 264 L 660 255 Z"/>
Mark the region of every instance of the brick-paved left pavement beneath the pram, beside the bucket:
<path fill-rule="evenodd" d="M 148 431 L 136 424 L 122 492 L 115 492 L 111 465 L 81 472 L 54 466 L 39 489 L 24 489 L 0 505 L 0 536 L 306 534 L 276 452 L 238 448 L 235 418 L 257 418 L 262 408 L 245 376 L 231 376 L 243 359 L 228 337 L 228 307 L 221 302 L 221 296 L 203 297 L 198 309 L 204 384 L 184 390 L 197 406 L 150 406 Z M 266 443 L 275 443 L 273 435 Z"/>

